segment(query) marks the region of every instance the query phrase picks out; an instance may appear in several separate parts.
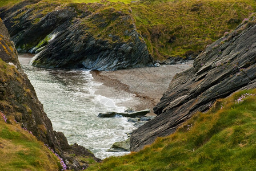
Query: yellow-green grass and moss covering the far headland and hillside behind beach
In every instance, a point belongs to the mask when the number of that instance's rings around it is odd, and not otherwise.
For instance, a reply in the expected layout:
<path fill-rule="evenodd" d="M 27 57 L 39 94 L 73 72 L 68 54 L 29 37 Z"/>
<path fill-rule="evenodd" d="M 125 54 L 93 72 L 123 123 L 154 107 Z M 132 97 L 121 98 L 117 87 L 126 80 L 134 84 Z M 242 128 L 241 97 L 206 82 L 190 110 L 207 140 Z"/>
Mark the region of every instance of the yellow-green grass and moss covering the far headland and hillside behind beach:
<path fill-rule="evenodd" d="M 30 16 L 30 22 L 37 25 L 39 21 L 54 10 L 74 7 L 77 17 L 71 19 L 71 23 L 77 23 L 81 18 L 79 28 L 84 30 L 83 36 L 85 38 L 89 34 L 89 38 L 93 36 L 95 39 L 110 42 L 119 42 L 119 39 L 128 42 L 131 36 L 127 34 L 126 30 L 129 30 L 129 24 L 134 25 L 132 28 L 135 28 L 142 36 L 141 39 L 145 40 L 150 54 L 154 59 L 159 60 L 170 56 L 195 57 L 207 44 L 211 44 L 231 32 L 256 9 L 254 0 L 147 0 L 134 1 L 133 3 L 126 0 L 121 0 L 121 2 L 115 0 L 54 2 L 34 0 L 31 2 L 33 4 L 25 6 L 24 9 L 18 10 L 12 16 L 14 19 L 11 22 L 13 23 L 7 27 L 22 27 L 19 22 L 30 14 L 33 14 Z M 84 18 L 87 15 L 93 17 Z M 118 20 L 116 21 L 116 19 Z M 18 46 L 30 50 L 36 45 L 34 43 L 39 43 L 50 32 L 43 35 L 43 37 L 38 36 L 38 39 L 34 40 L 33 43 L 27 42 L 25 38 L 24 43 L 18 43 Z"/>

